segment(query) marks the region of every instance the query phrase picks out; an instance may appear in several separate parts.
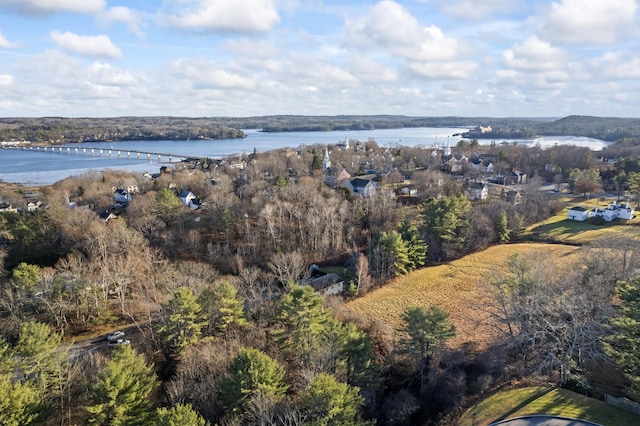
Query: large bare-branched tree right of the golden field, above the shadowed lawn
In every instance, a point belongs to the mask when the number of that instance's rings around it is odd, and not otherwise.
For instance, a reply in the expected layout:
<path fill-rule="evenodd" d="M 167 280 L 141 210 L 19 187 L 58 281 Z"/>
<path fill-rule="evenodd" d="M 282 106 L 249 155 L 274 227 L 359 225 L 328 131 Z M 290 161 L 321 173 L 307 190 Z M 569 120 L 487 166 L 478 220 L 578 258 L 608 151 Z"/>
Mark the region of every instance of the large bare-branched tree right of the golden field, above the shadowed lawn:
<path fill-rule="evenodd" d="M 516 254 L 488 291 L 492 324 L 529 366 L 555 372 L 565 384 L 575 366 L 600 356 L 597 343 L 611 313 L 611 293 L 602 291 L 602 282 L 584 279 L 580 264 L 559 268 Z"/>

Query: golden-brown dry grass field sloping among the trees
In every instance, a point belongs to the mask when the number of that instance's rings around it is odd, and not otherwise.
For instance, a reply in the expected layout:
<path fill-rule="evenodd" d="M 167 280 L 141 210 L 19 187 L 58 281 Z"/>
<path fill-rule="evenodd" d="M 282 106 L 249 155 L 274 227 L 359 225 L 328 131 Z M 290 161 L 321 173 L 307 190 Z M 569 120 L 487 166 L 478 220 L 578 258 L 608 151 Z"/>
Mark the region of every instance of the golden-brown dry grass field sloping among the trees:
<path fill-rule="evenodd" d="M 481 350 L 494 342 L 496 331 L 482 309 L 486 296 L 482 284 L 503 268 L 511 254 L 537 254 L 570 263 L 578 247 L 561 244 L 507 244 L 490 247 L 449 264 L 423 268 L 376 288 L 346 304 L 347 313 L 382 322 L 394 330 L 401 326 L 400 314 L 407 306 L 440 306 L 456 326 L 453 348 L 470 343 Z"/>

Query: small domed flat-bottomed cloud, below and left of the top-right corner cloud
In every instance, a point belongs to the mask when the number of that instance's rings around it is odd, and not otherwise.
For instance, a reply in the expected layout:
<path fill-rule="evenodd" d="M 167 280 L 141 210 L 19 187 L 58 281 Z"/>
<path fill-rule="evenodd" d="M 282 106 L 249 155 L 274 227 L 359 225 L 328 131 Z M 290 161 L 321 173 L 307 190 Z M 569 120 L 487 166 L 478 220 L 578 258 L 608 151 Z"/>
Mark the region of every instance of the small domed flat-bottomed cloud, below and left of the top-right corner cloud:
<path fill-rule="evenodd" d="M 536 36 L 504 51 L 503 57 L 508 67 L 527 71 L 553 70 L 561 68 L 567 62 L 564 50 Z"/>

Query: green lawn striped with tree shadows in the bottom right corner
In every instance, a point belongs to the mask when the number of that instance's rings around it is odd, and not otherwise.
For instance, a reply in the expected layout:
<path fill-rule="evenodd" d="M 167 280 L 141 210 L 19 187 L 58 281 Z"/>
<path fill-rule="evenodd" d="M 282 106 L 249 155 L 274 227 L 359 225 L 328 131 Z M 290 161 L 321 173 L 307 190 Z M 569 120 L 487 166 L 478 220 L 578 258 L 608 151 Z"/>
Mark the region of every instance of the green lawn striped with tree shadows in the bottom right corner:
<path fill-rule="evenodd" d="M 639 416 L 611 407 L 597 399 L 587 398 L 566 389 L 532 386 L 501 391 L 489 396 L 468 410 L 458 426 L 488 425 L 531 414 L 571 417 L 605 426 L 640 424 Z"/>

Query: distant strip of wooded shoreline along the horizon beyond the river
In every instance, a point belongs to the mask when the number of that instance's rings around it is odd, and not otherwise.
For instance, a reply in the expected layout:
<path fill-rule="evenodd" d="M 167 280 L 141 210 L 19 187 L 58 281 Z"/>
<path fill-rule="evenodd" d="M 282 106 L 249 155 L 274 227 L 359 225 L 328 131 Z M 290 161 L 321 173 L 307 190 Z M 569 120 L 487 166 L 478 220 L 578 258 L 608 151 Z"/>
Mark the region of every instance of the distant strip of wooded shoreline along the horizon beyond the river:
<path fill-rule="evenodd" d="M 491 131 L 480 131 L 489 126 Z M 299 116 L 263 117 L 117 117 L 0 118 L 0 141 L 87 142 L 118 140 L 187 140 L 241 138 L 240 129 L 265 132 L 394 129 L 403 127 L 468 127 L 464 136 L 527 139 L 536 136 L 587 136 L 606 141 L 640 139 L 640 120 L 569 116 L 554 118 Z"/>

